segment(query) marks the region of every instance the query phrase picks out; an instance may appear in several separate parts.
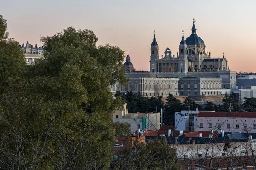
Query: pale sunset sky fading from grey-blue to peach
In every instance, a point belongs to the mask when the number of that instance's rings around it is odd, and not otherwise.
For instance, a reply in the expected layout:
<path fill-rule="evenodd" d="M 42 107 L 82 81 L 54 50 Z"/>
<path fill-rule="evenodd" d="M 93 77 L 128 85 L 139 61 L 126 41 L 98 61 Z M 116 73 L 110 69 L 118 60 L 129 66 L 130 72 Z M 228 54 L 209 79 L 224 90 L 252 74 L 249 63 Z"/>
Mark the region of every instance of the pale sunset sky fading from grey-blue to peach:
<path fill-rule="evenodd" d="M 134 68 L 149 70 L 153 31 L 160 56 L 177 54 L 184 29 L 189 37 L 195 17 L 197 34 L 212 58 L 223 52 L 232 71 L 256 69 L 255 0 L 5 0 L 0 15 L 10 38 L 32 45 L 72 26 L 92 30 L 97 45 L 118 46 Z M 208 53 L 209 54 L 209 53 Z"/>

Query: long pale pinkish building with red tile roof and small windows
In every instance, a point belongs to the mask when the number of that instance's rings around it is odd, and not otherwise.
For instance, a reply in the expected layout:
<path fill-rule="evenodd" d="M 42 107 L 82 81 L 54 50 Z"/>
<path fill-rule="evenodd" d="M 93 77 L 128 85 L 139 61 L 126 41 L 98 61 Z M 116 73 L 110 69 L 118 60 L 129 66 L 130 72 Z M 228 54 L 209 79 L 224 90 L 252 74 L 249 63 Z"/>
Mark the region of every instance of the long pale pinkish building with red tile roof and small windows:
<path fill-rule="evenodd" d="M 256 112 L 206 112 L 195 116 L 196 131 L 224 130 L 225 132 L 256 133 Z"/>

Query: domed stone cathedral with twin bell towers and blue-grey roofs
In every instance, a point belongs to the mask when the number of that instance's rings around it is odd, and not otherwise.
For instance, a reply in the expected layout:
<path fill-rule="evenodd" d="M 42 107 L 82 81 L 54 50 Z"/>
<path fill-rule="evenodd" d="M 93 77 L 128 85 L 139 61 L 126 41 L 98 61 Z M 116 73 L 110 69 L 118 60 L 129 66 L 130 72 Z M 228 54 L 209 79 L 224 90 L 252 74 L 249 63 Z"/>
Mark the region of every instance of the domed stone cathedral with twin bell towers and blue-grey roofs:
<path fill-rule="evenodd" d="M 129 59 L 127 57 L 125 65 L 129 67 L 125 76 L 130 78 L 221 78 L 221 88 L 236 89 L 236 72 L 229 68 L 224 53 L 222 57 L 213 58 L 211 52 L 206 51 L 203 39 L 197 35 L 195 20 L 193 20 L 191 34 L 186 39 L 183 31 L 177 55 L 173 55 L 168 47 L 163 52 L 164 55 L 159 55 L 160 48 L 154 31 L 153 42 L 150 45 L 150 71 L 128 71 L 131 64 L 127 62 Z"/>

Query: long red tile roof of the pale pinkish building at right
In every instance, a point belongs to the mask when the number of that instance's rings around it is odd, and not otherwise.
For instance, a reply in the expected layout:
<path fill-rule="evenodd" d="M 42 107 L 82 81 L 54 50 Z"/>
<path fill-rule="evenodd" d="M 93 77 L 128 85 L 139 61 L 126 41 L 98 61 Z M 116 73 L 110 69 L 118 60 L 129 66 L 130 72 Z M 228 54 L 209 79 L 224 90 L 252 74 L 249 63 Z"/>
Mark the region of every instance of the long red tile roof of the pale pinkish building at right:
<path fill-rule="evenodd" d="M 196 117 L 247 117 L 256 118 L 256 112 L 204 112 L 201 111 Z"/>

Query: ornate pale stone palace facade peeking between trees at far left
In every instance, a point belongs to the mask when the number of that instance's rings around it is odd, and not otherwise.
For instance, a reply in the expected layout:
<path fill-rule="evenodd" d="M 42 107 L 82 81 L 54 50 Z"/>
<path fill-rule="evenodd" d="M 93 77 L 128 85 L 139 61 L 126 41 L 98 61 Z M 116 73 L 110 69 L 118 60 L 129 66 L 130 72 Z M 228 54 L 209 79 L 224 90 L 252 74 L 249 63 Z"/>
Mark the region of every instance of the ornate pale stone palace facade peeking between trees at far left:
<path fill-rule="evenodd" d="M 26 45 L 24 45 L 23 43 L 22 45 L 20 45 L 20 48 L 24 52 L 25 62 L 28 65 L 33 64 L 36 60 L 40 58 L 43 58 L 44 49 L 41 46 L 38 47 L 37 44 L 33 46 L 29 44 L 29 41 L 27 41 Z"/>

